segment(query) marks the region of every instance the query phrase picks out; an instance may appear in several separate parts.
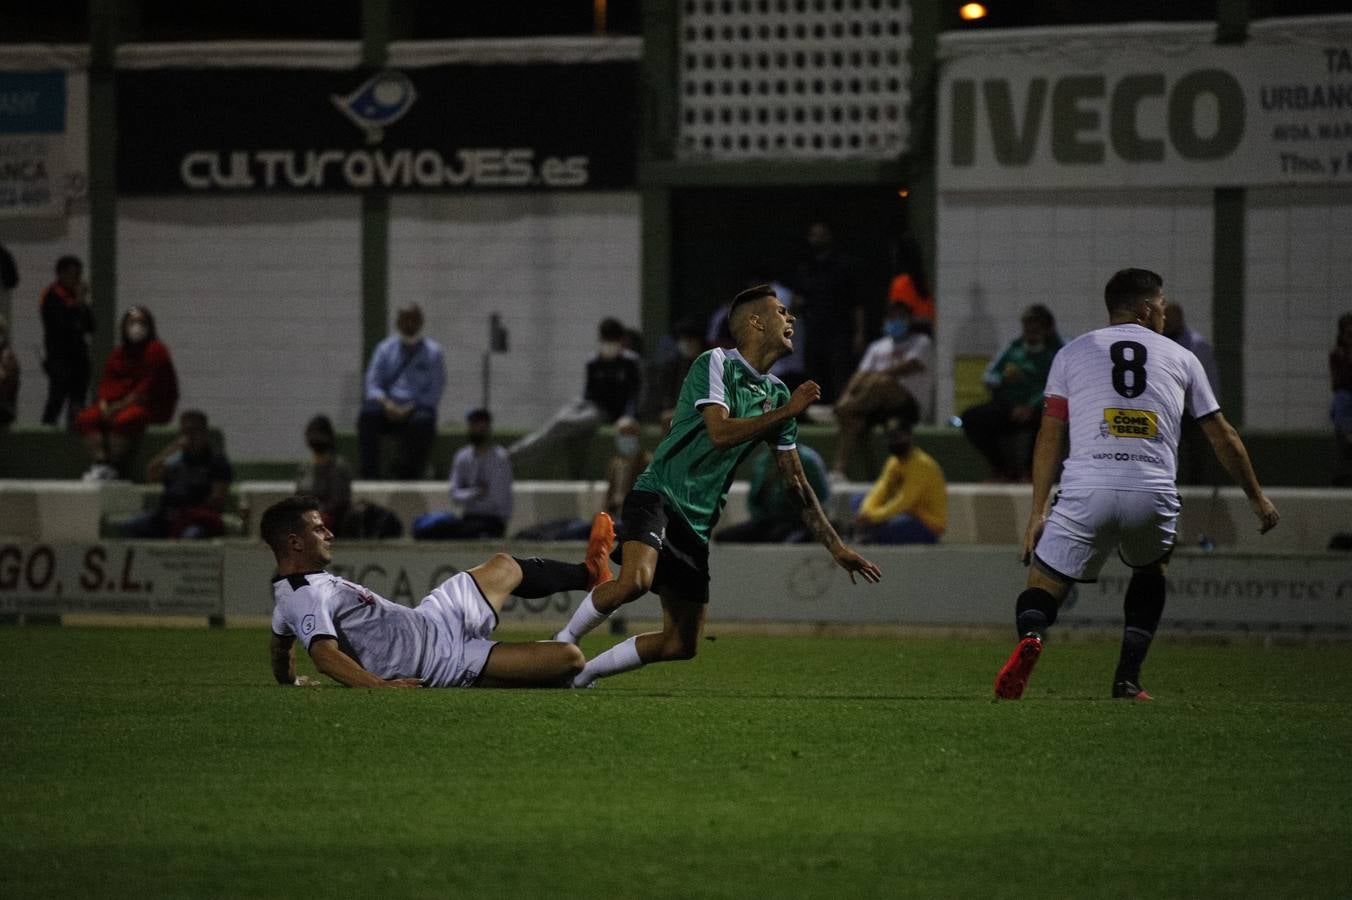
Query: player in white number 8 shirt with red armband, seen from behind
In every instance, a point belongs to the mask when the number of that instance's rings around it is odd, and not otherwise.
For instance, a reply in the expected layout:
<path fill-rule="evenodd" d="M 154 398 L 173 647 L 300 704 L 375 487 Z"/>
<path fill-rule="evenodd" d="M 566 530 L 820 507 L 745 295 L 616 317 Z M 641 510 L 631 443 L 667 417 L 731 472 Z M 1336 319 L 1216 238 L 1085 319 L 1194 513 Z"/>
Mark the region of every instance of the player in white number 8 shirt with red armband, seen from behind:
<path fill-rule="evenodd" d="M 995 696 L 1018 700 L 1042 641 L 1076 581 L 1098 580 L 1114 549 L 1132 566 L 1126 627 L 1113 696 L 1149 700 L 1141 664 L 1164 612 L 1164 572 L 1174 550 L 1179 495 L 1179 423 L 1191 415 L 1249 499 L 1267 532 L 1276 507 L 1263 495 L 1240 435 L 1221 415 L 1202 364 L 1163 336 L 1164 280 L 1122 269 L 1103 291 L 1109 326 L 1061 347 L 1046 378 L 1046 409 L 1033 450 L 1033 512 L 1023 535 L 1028 589 L 1018 597 L 1019 642 L 995 677 Z M 1071 450 L 1061 489 L 1046 509 L 1063 441 Z"/>

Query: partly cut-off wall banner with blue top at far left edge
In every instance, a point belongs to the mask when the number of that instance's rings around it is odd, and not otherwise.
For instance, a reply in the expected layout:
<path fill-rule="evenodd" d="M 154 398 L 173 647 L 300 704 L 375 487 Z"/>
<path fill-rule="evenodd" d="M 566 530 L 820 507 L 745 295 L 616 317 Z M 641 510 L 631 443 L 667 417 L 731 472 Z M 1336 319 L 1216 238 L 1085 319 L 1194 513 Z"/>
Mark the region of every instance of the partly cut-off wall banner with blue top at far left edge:
<path fill-rule="evenodd" d="M 0 218 L 66 209 L 66 74 L 0 72 Z"/>

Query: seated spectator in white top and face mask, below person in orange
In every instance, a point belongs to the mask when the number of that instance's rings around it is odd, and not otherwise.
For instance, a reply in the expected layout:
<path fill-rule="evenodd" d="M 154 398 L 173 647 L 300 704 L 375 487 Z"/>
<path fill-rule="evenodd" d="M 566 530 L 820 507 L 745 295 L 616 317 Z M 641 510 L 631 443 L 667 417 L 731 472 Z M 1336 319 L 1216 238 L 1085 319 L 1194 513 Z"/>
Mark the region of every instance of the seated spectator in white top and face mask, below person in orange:
<path fill-rule="evenodd" d="M 911 331 L 904 303 L 887 305 L 883 336 L 868 345 L 859 369 L 836 403 L 840 438 L 831 478 L 844 481 L 859 439 L 873 422 L 896 416 L 907 424 L 929 420 L 934 395 L 934 342 Z"/>

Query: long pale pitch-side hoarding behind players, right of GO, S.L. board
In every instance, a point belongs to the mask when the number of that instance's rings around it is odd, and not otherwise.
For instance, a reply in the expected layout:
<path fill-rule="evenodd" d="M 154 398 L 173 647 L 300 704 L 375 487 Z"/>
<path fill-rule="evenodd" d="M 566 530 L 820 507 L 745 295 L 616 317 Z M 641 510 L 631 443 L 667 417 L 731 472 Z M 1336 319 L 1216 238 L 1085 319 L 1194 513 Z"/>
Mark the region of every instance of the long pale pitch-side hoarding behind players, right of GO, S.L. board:
<path fill-rule="evenodd" d="M 503 547 L 493 543 L 346 545 L 334 572 L 389 600 L 415 605 L 454 568 L 472 568 Z M 576 559 L 580 545 L 511 545 L 518 557 Z M 265 550 L 230 547 L 226 615 L 272 612 L 272 558 Z M 1009 626 L 1026 569 L 1013 546 L 860 547 L 883 568 L 876 585 L 849 577 L 815 546 L 714 546 L 708 622 L 846 624 Z M 1098 584 L 1080 585 L 1065 609 L 1067 626 L 1121 627 L 1130 569 L 1114 559 Z M 539 600 L 508 600 L 504 624 L 553 630 L 581 592 Z M 661 618 L 649 595 L 625 616 Z M 1336 554 L 1241 554 L 1180 551 L 1169 565 L 1165 623 L 1172 627 L 1278 631 L 1352 630 L 1352 568 Z"/>

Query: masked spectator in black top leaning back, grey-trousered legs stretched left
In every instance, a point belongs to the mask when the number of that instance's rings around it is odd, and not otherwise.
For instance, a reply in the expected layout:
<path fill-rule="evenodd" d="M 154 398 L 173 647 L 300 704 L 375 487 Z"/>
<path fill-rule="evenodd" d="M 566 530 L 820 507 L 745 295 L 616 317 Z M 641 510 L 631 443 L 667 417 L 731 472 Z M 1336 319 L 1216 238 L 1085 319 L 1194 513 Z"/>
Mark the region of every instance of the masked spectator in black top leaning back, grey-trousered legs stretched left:
<path fill-rule="evenodd" d="M 642 362 L 637 353 L 625 349 L 625 326 L 618 319 L 602 319 L 596 355 L 587 364 L 583 396 L 514 443 L 510 450 L 514 465 L 545 458 L 565 443 L 588 441 L 600 426 L 635 414 L 644 385 Z"/>

